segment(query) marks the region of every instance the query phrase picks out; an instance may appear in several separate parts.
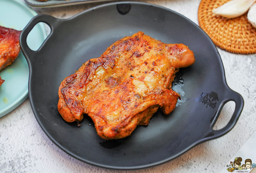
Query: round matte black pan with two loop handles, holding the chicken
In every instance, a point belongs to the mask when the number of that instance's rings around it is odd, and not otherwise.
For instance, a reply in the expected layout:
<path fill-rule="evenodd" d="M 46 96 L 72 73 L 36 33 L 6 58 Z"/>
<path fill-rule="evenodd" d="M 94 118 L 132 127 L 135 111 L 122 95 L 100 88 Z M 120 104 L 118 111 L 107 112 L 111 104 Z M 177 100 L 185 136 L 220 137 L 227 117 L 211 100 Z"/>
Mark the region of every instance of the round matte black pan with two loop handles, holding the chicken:
<path fill-rule="evenodd" d="M 48 24 L 51 33 L 32 51 L 26 38 L 38 22 Z M 100 138 L 88 116 L 80 127 L 65 122 L 57 110 L 61 81 L 116 40 L 138 31 L 193 50 L 195 64 L 181 69 L 173 83 L 182 102 L 170 115 L 158 111 L 148 126 L 139 126 L 131 136 L 119 140 Z M 156 5 L 110 3 L 66 20 L 38 15 L 22 31 L 20 46 L 29 65 L 29 98 L 38 123 L 59 148 L 91 165 L 132 170 L 165 163 L 226 134 L 243 108 L 243 98 L 227 86 L 220 55 L 205 32 L 184 16 Z M 228 101 L 236 103 L 234 114 L 223 129 L 214 131 Z"/>

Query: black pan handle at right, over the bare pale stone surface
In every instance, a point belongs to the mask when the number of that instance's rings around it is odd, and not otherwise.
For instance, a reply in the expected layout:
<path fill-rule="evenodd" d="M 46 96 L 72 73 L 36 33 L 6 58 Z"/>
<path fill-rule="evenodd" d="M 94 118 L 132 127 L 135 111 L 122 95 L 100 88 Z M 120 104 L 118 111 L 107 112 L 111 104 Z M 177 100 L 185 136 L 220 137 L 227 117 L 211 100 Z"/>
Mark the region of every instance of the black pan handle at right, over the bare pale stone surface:
<path fill-rule="evenodd" d="M 203 138 L 203 140 L 210 140 L 210 139 L 218 138 L 218 137 L 228 133 L 235 126 L 235 124 L 243 110 L 243 104 L 244 104 L 243 97 L 239 93 L 237 93 L 231 89 L 228 89 L 228 92 L 226 92 L 225 97 L 228 99 L 225 99 L 224 101 L 222 101 L 220 103 L 219 109 L 217 111 L 217 116 L 215 117 L 215 120 L 213 121 L 213 123 L 210 125 L 209 133 L 205 136 L 205 138 Z M 216 123 L 224 104 L 226 104 L 229 101 L 234 101 L 236 103 L 235 110 L 234 110 L 234 113 L 233 113 L 230 121 L 222 129 L 213 130 L 212 128 L 213 128 L 214 124 Z"/>

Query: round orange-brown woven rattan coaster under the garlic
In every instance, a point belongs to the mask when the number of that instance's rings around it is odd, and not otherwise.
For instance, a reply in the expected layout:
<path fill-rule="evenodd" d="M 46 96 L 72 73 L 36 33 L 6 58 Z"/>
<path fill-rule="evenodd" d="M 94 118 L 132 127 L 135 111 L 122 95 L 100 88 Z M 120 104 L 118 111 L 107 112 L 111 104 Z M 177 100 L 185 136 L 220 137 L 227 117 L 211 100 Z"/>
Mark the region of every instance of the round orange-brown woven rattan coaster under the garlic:
<path fill-rule="evenodd" d="M 212 10 L 230 0 L 202 0 L 198 9 L 199 26 L 221 49 L 236 54 L 256 53 L 256 28 L 247 20 L 247 13 L 226 19 Z"/>

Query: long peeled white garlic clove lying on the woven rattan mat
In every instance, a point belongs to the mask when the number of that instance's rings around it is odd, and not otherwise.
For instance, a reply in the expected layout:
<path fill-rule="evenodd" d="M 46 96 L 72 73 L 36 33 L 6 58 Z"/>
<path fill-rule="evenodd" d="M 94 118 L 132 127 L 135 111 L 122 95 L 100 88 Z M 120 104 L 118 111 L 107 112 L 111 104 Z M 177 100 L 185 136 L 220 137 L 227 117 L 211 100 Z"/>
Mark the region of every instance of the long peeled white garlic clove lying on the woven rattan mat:
<path fill-rule="evenodd" d="M 245 14 L 254 2 L 255 0 L 232 0 L 212 12 L 226 18 L 236 18 Z"/>

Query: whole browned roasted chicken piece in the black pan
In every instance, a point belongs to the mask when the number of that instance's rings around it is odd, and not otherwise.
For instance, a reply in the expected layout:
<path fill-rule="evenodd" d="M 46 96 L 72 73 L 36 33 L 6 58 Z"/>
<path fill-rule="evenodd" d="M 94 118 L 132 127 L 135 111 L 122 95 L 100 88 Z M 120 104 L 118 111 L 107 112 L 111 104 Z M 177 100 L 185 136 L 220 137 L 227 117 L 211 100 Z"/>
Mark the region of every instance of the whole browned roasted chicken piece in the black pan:
<path fill-rule="evenodd" d="M 129 136 L 148 125 L 161 108 L 170 114 L 179 94 L 172 91 L 175 73 L 195 62 L 184 44 L 165 44 L 141 31 L 112 44 L 90 59 L 59 87 L 58 110 L 67 122 L 87 114 L 104 139 Z"/>

